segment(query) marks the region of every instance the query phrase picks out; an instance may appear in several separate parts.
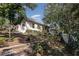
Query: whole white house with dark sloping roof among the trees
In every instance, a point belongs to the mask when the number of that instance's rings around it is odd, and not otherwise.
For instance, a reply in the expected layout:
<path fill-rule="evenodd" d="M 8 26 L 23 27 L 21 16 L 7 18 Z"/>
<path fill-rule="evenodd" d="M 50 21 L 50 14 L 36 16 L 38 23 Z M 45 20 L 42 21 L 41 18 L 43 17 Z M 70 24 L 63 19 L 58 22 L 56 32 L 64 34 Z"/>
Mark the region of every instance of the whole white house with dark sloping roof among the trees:
<path fill-rule="evenodd" d="M 27 30 L 42 32 L 46 25 L 36 22 L 31 18 L 28 18 L 24 23 L 17 25 L 17 31 L 21 33 L 27 32 Z"/>

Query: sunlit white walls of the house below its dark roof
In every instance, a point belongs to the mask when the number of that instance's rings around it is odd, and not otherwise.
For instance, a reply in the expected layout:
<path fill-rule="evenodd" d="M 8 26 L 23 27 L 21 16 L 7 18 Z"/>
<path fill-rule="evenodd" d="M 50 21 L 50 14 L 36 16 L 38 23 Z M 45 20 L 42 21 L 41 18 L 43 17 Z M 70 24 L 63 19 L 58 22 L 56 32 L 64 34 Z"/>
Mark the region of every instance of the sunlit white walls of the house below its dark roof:
<path fill-rule="evenodd" d="M 39 28 L 38 28 L 39 26 Z M 23 29 L 24 28 L 24 29 Z M 33 31 L 40 31 L 42 32 L 43 26 L 39 24 L 35 24 L 32 22 L 25 22 L 25 26 L 22 26 L 22 24 L 18 25 L 18 31 L 25 33 L 27 30 L 33 30 Z"/>

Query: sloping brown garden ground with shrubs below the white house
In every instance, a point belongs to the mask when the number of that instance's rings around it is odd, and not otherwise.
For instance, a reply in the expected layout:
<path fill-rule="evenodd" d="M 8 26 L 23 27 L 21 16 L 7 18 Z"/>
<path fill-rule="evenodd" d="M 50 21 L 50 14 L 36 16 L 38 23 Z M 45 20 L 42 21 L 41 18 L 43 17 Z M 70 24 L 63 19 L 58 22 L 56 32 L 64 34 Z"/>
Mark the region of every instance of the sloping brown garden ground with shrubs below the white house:
<path fill-rule="evenodd" d="M 65 44 L 59 41 L 59 37 L 53 37 L 47 33 L 31 32 L 29 35 L 12 33 L 9 40 L 8 33 L 0 32 L 0 54 L 17 56 L 45 56 L 72 55 L 66 50 Z M 11 50 L 11 51 L 10 51 Z M 3 52 L 2 52 L 3 51 Z M 9 52 L 7 52 L 9 51 Z"/>

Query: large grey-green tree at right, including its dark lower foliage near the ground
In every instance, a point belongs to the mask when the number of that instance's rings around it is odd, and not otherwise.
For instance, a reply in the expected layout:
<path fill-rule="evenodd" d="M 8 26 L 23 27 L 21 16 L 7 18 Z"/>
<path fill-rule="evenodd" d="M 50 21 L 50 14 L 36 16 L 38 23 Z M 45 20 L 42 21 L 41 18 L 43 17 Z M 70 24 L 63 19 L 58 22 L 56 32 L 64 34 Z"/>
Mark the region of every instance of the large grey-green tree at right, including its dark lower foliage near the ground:
<path fill-rule="evenodd" d="M 64 31 L 69 35 L 71 42 L 67 47 L 70 51 L 79 48 L 79 4 L 48 4 L 43 20 L 47 24 L 56 22 L 61 32 Z"/>

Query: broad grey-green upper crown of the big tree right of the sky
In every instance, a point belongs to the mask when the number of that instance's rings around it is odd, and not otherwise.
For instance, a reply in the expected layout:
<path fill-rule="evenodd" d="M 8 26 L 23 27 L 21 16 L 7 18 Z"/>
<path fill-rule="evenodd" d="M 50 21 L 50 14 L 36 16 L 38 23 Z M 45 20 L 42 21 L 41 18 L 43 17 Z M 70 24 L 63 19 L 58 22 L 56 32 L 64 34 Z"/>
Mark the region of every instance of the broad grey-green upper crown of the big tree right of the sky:
<path fill-rule="evenodd" d="M 66 33 L 78 30 L 79 4 L 48 4 L 45 11 L 45 23 L 56 22 Z"/>

